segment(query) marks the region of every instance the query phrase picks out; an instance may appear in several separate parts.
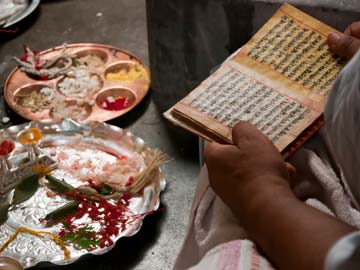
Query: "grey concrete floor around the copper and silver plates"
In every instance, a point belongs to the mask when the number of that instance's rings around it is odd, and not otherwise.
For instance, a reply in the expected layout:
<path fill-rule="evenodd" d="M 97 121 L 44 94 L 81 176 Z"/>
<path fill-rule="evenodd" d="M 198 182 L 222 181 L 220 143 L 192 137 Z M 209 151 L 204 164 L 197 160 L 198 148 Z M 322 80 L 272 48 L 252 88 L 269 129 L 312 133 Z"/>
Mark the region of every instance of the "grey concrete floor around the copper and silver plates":
<path fill-rule="evenodd" d="M 11 56 L 22 55 L 22 44 L 44 50 L 63 42 L 110 44 L 129 50 L 148 61 L 146 10 L 144 0 L 49 0 L 21 24 L 16 35 L 0 33 L 0 86 L 15 66 Z M 118 241 L 102 255 L 89 256 L 63 267 L 35 267 L 52 270 L 171 269 L 185 233 L 188 211 L 198 173 L 196 138 L 175 139 L 155 106 L 154 93 L 130 113 L 109 121 L 127 128 L 172 158 L 163 168 L 167 188 L 161 196 L 162 212 L 146 217 L 138 234 Z M 0 119 L 11 124 L 26 121 L 1 100 Z M 188 142 L 192 142 L 188 144 Z"/>

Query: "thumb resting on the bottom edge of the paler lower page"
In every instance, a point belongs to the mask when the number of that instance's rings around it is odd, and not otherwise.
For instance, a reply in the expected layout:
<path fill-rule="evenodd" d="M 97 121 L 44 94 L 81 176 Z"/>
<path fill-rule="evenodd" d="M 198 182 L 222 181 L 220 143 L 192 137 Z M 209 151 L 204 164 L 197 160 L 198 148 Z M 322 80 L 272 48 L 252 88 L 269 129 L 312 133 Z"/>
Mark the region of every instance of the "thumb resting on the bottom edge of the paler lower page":
<path fill-rule="evenodd" d="M 238 147 L 253 140 L 267 142 L 268 139 L 254 125 L 247 121 L 240 121 L 232 128 L 232 141 Z"/>

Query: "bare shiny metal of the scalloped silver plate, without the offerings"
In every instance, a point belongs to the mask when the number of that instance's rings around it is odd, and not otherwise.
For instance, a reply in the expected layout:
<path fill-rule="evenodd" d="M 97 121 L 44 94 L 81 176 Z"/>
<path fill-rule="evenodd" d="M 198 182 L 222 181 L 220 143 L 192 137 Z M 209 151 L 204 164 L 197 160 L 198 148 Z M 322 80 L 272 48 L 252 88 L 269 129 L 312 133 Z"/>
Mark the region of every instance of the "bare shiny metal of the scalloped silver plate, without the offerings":
<path fill-rule="evenodd" d="M 101 149 L 104 153 L 116 155 L 136 155 L 141 156 L 146 163 L 150 149 L 140 138 L 135 137 L 130 132 L 111 126 L 105 123 L 90 122 L 87 124 L 78 124 L 72 120 L 54 122 L 49 120 L 30 122 L 27 124 L 13 126 L 0 131 L 0 138 L 10 138 L 16 140 L 16 134 L 30 127 L 38 127 L 43 132 L 43 139 L 40 144 L 42 149 L 47 149 L 49 145 L 55 147 L 66 147 L 73 142 L 83 145 L 91 145 L 90 148 Z M 69 146 L 70 149 L 70 146 Z M 24 150 L 19 143 L 16 143 L 14 156 L 21 155 Z M 74 151 L 73 149 L 69 150 Z M 145 164 L 144 163 L 144 164 Z M 61 170 L 53 172 L 55 176 L 61 177 Z M 60 175 L 59 175 L 60 174 Z M 65 179 L 73 185 L 80 185 L 80 181 L 74 179 Z M 76 183 L 78 182 L 78 183 Z M 165 179 L 152 183 L 145 187 L 143 196 L 130 199 L 129 208 L 135 214 L 147 213 L 156 210 L 159 207 L 159 194 L 165 188 Z M 0 198 L 0 202 L 6 198 Z M 40 223 L 39 218 L 44 217 L 50 211 L 63 205 L 65 199 L 56 196 L 49 198 L 46 195 L 45 188 L 40 187 L 36 194 L 29 200 L 17 205 L 9 213 L 9 218 L 5 224 L 0 226 L 0 245 L 2 245 L 18 227 L 27 227 L 37 231 L 58 232 L 59 226 L 45 228 Z M 66 260 L 63 251 L 58 245 L 48 238 L 39 238 L 29 234 L 20 234 L 1 254 L 18 260 L 25 268 L 35 266 L 40 262 L 49 262 L 56 265 L 65 265 L 77 261 L 81 256 L 86 254 L 100 255 L 108 252 L 113 248 L 116 241 L 124 236 L 136 234 L 142 225 L 143 218 L 138 219 L 135 223 L 129 224 L 126 229 L 118 236 L 114 237 L 114 244 L 110 247 L 97 248 L 92 251 L 80 250 L 73 246 L 68 246 L 71 252 L 71 258 Z"/>

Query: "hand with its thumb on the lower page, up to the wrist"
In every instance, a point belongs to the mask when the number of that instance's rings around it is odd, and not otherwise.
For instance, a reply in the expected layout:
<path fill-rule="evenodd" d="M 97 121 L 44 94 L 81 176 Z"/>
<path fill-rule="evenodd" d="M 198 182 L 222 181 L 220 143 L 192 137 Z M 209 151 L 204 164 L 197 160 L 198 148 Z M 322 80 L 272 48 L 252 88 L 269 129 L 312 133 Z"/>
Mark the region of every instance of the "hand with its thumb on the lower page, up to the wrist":
<path fill-rule="evenodd" d="M 289 170 L 294 169 L 265 135 L 249 122 L 239 122 L 232 138 L 233 145 L 210 143 L 204 153 L 210 185 L 232 210 L 277 187 L 290 191 Z"/>

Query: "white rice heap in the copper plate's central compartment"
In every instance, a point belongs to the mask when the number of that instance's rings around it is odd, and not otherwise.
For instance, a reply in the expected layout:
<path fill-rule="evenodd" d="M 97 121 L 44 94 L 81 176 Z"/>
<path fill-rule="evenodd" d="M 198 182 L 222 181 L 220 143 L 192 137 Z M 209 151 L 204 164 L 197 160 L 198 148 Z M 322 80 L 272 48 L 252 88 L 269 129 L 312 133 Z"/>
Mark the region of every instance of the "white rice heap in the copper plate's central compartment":
<path fill-rule="evenodd" d="M 78 98 L 86 97 L 101 87 L 96 75 L 82 69 L 72 70 L 58 86 L 64 95 Z"/>

